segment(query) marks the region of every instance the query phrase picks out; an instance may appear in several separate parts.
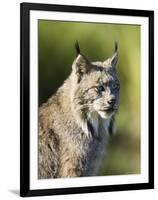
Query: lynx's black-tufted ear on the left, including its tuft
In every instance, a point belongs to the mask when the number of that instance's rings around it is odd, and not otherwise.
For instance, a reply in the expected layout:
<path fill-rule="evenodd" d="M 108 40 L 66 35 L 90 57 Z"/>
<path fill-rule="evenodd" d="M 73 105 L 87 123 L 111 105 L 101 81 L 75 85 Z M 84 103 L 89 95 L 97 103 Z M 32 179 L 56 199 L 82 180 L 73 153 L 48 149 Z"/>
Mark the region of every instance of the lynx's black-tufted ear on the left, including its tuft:
<path fill-rule="evenodd" d="M 77 81 L 79 82 L 82 76 L 88 72 L 90 68 L 90 62 L 84 55 L 81 54 L 78 42 L 76 42 L 75 48 L 77 57 L 73 62 L 72 70 L 77 77 Z"/>

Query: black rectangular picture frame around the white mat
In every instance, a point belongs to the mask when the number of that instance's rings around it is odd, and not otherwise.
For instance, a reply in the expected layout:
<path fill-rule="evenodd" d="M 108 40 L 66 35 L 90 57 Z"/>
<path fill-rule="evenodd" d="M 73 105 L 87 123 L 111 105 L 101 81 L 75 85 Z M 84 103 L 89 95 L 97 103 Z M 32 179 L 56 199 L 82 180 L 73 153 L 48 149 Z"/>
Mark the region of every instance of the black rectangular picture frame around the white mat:
<path fill-rule="evenodd" d="M 87 186 L 58 189 L 30 189 L 30 11 L 60 11 L 92 14 L 111 14 L 123 16 L 147 17 L 149 19 L 149 181 L 147 183 Z M 108 192 L 154 188 L 154 12 L 149 10 L 130 10 L 100 7 L 82 7 L 70 5 L 51 5 L 21 3 L 20 5 L 20 195 L 43 196 L 74 193 Z"/>

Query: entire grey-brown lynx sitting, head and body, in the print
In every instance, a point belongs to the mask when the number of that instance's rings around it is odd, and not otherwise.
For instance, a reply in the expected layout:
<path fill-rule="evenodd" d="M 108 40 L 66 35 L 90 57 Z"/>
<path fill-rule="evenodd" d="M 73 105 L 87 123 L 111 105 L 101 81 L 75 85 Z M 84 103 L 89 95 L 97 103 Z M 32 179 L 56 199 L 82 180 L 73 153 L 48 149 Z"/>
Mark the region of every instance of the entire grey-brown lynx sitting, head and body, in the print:
<path fill-rule="evenodd" d="M 118 109 L 117 44 L 104 62 L 77 57 L 64 84 L 39 109 L 38 177 L 96 175 Z"/>

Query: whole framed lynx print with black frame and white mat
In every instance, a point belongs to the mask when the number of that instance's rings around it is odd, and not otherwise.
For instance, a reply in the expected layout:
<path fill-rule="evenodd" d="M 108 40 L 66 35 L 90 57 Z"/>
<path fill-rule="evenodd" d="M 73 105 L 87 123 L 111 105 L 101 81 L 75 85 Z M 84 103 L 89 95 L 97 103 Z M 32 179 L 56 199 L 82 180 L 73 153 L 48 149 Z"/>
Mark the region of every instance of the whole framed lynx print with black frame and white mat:
<path fill-rule="evenodd" d="M 20 8 L 21 196 L 154 188 L 154 12 Z"/>

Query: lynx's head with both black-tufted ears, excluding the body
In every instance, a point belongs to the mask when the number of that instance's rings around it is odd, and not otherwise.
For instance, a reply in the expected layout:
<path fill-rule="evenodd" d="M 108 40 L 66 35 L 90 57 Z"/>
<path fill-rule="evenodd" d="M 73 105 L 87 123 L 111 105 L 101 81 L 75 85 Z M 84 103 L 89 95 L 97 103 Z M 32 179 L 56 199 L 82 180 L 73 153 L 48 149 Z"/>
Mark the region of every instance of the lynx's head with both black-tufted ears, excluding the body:
<path fill-rule="evenodd" d="M 110 119 L 118 109 L 120 84 L 116 73 L 118 48 L 103 62 L 91 62 L 80 52 L 76 43 L 77 57 L 72 65 L 73 109 L 83 121 L 97 115 Z"/>

